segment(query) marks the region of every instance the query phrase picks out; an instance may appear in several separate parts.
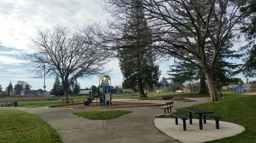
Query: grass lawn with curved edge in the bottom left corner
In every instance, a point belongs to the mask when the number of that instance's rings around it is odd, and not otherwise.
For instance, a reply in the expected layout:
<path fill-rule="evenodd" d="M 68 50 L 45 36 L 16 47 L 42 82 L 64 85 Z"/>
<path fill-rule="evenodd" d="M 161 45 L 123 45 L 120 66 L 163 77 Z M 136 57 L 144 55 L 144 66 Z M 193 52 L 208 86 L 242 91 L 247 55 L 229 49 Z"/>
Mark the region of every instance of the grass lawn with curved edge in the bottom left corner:
<path fill-rule="evenodd" d="M 41 118 L 15 109 L 0 109 L 1 143 L 62 143 Z"/>

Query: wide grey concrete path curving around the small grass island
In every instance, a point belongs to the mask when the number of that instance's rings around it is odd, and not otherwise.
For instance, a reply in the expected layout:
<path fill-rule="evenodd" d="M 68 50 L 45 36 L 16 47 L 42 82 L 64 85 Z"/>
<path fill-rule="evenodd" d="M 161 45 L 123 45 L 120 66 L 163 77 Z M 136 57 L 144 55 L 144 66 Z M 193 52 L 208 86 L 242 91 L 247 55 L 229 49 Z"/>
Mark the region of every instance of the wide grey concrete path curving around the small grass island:
<path fill-rule="evenodd" d="M 175 101 L 173 109 L 209 101 L 209 98 L 193 99 L 195 99 L 194 102 Z M 103 109 L 73 111 L 45 107 L 16 107 L 15 109 L 32 113 L 47 121 L 58 132 L 64 143 L 180 143 L 161 133 L 154 126 L 154 117 L 163 114 L 163 109 L 160 107 L 119 108 L 119 110 L 133 112 L 111 120 L 89 120 L 72 114 Z"/>

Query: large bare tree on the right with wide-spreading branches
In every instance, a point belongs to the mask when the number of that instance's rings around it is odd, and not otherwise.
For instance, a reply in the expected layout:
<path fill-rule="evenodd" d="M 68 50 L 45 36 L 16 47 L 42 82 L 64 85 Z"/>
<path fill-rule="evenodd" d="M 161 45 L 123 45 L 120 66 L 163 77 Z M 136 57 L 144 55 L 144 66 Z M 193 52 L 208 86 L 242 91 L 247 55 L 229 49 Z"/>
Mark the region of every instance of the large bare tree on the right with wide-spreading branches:
<path fill-rule="evenodd" d="M 114 20 L 109 22 L 111 26 L 107 30 L 96 32 L 96 35 L 102 39 L 102 46 L 105 42 L 105 48 L 111 49 L 111 45 L 121 39 L 118 31 L 122 28 L 125 31 L 124 22 L 120 21 L 125 21 L 124 16 L 131 12 L 131 8 L 143 8 L 153 37 L 151 42 L 154 45 L 151 48 L 167 57 L 201 67 L 206 75 L 211 101 L 218 101 L 213 69 L 221 49 L 230 48 L 224 43 L 230 34 L 238 32 L 239 22 L 244 15 L 240 8 L 247 6 L 249 1 L 105 0 L 105 9 L 114 15 Z"/>

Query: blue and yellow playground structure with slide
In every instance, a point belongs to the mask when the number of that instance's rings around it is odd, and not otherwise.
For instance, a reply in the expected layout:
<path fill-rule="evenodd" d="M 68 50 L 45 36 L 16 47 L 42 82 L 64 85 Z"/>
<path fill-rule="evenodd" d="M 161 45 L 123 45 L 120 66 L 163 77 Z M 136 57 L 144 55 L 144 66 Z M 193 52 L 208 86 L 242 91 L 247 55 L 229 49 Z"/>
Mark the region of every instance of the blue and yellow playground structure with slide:
<path fill-rule="evenodd" d="M 93 103 L 93 100 L 96 98 L 96 104 L 98 104 L 99 98 L 99 105 L 109 106 L 111 105 L 111 100 L 113 98 L 114 88 L 111 87 L 111 78 L 108 75 L 101 76 L 99 78 L 99 90 L 96 92 L 91 91 L 89 92 L 87 101 L 84 101 L 84 105 L 89 105 Z"/>

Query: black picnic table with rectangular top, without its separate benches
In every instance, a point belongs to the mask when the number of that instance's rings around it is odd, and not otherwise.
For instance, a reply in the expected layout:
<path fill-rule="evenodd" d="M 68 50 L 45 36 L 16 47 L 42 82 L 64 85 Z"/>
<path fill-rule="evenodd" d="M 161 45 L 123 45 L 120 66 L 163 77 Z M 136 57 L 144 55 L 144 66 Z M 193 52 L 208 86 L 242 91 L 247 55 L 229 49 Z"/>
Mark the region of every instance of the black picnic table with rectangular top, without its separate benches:
<path fill-rule="evenodd" d="M 183 109 L 183 110 L 189 112 L 189 124 L 192 124 L 192 113 L 199 115 L 199 129 L 203 129 L 202 115 L 213 113 L 212 111 L 207 111 L 207 110 L 199 109 L 199 108 L 195 108 L 195 107 L 186 107 L 186 108 L 180 108 L 180 109 Z"/>

